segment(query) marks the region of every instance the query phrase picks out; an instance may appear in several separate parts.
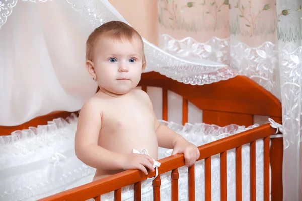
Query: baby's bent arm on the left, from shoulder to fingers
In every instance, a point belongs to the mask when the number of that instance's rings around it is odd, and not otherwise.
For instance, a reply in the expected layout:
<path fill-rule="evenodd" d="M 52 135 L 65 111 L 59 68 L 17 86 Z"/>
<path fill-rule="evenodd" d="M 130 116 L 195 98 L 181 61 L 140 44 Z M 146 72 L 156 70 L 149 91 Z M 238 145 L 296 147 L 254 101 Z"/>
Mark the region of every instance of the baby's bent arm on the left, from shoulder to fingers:
<path fill-rule="evenodd" d="M 90 167 L 104 170 L 139 169 L 147 173 L 145 167 L 154 171 L 153 160 L 142 154 L 121 154 L 98 146 L 102 127 L 102 112 L 94 99 L 85 103 L 78 118 L 75 134 L 75 154 Z"/>

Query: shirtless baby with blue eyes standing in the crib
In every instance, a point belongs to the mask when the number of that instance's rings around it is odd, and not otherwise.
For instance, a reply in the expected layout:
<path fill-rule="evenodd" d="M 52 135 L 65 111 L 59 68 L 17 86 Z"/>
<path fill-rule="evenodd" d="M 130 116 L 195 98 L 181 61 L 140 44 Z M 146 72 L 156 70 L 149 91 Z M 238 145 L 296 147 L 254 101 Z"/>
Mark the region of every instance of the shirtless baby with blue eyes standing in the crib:
<path fill-rule="evenodd" d="M 75 153 L 96 168 L 93 180 L 123 170 L 155 171 L 158 147 L 184 153 L 186 166 L 199 158 L 197 147 L 156 118 L 147 93 L 135 89 L 146 66 L 141 36 L 132 27 L 110 21 L 86 43 L 86 69 L 100 90 L 84 103 L 75 134 Z M 146 149 L 148 154 L 133 153 Z"/>

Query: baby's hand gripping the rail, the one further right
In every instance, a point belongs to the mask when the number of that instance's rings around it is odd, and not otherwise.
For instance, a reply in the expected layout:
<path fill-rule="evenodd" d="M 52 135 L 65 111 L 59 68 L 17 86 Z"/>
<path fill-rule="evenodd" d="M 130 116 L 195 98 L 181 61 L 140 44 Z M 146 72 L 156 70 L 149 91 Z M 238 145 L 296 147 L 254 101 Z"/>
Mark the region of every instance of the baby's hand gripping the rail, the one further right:
<path fill-rule="evenodd" d="M 183 153 L 185 155 L 185 163 L 187 167 L 194 165 L 195 161 L 199 158 L 200 155 L 198 148 L 185 139 L 175 142 L 171 155 L 177 153 Z"/>

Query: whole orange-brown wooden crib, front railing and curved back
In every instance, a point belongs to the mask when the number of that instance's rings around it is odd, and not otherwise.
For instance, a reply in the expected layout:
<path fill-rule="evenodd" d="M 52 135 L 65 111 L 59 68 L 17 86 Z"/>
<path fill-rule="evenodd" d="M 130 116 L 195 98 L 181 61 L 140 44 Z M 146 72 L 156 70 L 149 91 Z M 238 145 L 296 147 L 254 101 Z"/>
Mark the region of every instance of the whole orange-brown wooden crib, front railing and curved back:
<path fill-rule="evenodd" d="M 143 73 L 139 86 L 147 91 L 148 86 L 162 88 L 163 120 L 168 119 L 168 91 L 183 97 L 182 121 L 188 122 L 188 102 L 202 109 L 203 122 L 226 126 L 237 124 L 249 126 L 254 123 L 254 115 L 267 116 L 281 123 L 281 103 L 271 93 L 244 76 L 220 81 L 209 85 L 189 85 L 177 82 L 156 72 Z M 69 112 L 54 112 L 37 117 L 23 125 L 0 127 L 1 134 L 10 134 L 15 130 L 47 124 L 47 121 L 58 117 L 67 117 Z M 282 157 L 283 138 L 274 135 L 276 129 L 269 124 L 235 134 L 221 140 L 202 145 L 200 157 L 205 159 L 205 200 L 211 200 L 211 156 L 220 154 L 220 195 L 226 200 L 226 151 L 236 149 L 236 200 L 242 198 L 242 145 L 250 144 L 250 197 L 256 200 L 256 140 L 264 141 L 264 200 L 282 200 Z M 271 143 L 271 144 L 270 144 Z M 160 159 L 159 174 L 171 172 L 172 200 L 178 200 L 178 168 L 185 165 L 183 154 Z M 270 179 L 271 168 L 271 179 Z M 150 173 L 148 177 L 154 177 Z M 100 200 L 102 194 L 114 191 L 115 200 L 121 200 L 121 188 L 134 184 L 135 200 L 141 200 L 141 181 L 146 175 L 138 170 L 127 170 L 110 177 L 100 179 L 41 200 Z M 188 172 L 189 197 L 195 200 L 194 166 Z M 271 184 L 271 190 L 270 190 Z M 160 176 L 153 181 L 154 200 L 160 200 Z"/>

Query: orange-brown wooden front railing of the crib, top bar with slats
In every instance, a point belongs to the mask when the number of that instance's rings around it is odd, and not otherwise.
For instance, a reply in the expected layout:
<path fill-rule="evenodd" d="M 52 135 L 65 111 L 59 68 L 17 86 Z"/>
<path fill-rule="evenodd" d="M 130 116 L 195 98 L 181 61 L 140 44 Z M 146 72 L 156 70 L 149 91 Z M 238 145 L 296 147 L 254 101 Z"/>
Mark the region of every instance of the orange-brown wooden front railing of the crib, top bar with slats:
<path fill-rule="evenodd" d="M 257 128 L 233 135 L 233 136 L 229 136 L 202 146 L 199 146 L 198 149 L 200 151 L 200 157 L 198 158 L 198 160 L 202 160 L 202 159 L 207 159 L 209 162 L 206 162 L 206 168 L 210 167 L 210 157 L 214 156 L 216 154 L 221 153 L 221 157 L 223 158 L 224 161 L 224 157 L 225 157 L 225 152 L 227 150 L 236 148 L 236 155 L 237 156 L 241 156 L 241 152 L 239 154 L 239 151 L 241 150 L 242 145 L 247 144 L 247 143 L 252 143 L 258 139 L 265 139 L 264 140 L 264 150 L 265 150 L 265 165 L 264 165 L 264 190 L 267 190 L 267 187 L 269 186 L 269 177 L 268 177 L 268 169 L 267 169 L 267 164 L 269 164 L 269 156 L 268 154 L 268 142 L 269 142 L 269 136 L 275 133 L 275 129 L 271 128 L 269 124 L 265 124 L 262 126 L 259 126 Z M 240 159 L 236 159 L 236 160 L 241 160 L 241 157 L 239 157 Z M 266 160 L 268 159 L 268 160 Z M 222 161 L 222 162 L 223 162 Z M 184 161 L 184 155 L 183 154 L 176 154 L 173 156 L 169 156 L 167 158 L 163 158 L 160 159 L 159 162 L 161 163 L 160 168 L 158 169 L 159 174 L 171 171 L 171 170 L 176 170 L 179 167 L 185 166 L 185 161 Z M 224 163 L 224 162 L 223 162 Z M 223 169 L 222 172 L 222 178 L 223 180 L 221 180 L 221 183 L 223 183 L 222 187 L 221 187 L 221 194 L 223 195 L 223 197 L 225 198 L 225 164 L 222 165 L 223 167 L 221 167 Z M 241 173 L 241 168 L 237 167 L 238 165 L 236 165 L 236 172 L 240 172 Z M 189 177 L 193 177 L 194 175 L 194 168 L 191 168 L 190 170 L 190 174 Z M 210 172 L 210 170 L 206 170 L 208 172 Z M 173 173 L 176 173 L 176 171 L 174 171 Z M 206 173 L 206 174 L 210 174 L 210 173 Z M 152 172 L 148 175 L 148 177 L 153 177 L 155 176 L 155 172 Z M 177 179 L 178 175 L 176 174 L 174 179 Z M 241 174 L 239 175 L 239 177 L 241 177 Z M 241 180 L 239 180 L 239 177 L 236 177 L 236 184 L 241 184 Z M 121 188 L 131 185 L 131 184 L 135 184 L 138 183 L 142 180 L 145 180 L 147 178 L 146 175 L 142 174 L 140 171 L 138 170 L 127 170 L 97 181 L 93 181 L 91 183 L 85 184 L 83 186 L 79 186 L 46 198 L 43 198 L 41 200 L 43 201 L 47 201 L 47 200 L 78 200 L 78 199 L 89 199 L 92 197 L 98 197 L 99 195 L 111 192 L 111 191 L 115 191 L 114 195 L 116 196 L 116 200 L 120 200 L 120 194 L 121 194 Z M 207 182 L 209 182 L 209 176 L 206 178 L 206 185 L 208 184 Z M 190 179 L 189 179 L 190 182 Z M 135 187 L 136 191 L 138 191 L 140 189 L 140 184 L 137 184 L 138 186 Z M 154 186 L 154 197 L 155 200 L 160 200 L 160 185 L 161 185 L 161 180 L 160 180 L 160 176 L 158 176 L 154 181 L 153 181 L 153 186 Z M 192 187 L 194 186 L 193 183 L 190 184 Z M 174 184 L 174 188 L 175 188 L 175 184 Z M 241 189 L 241 185 L 239 187 L 237 187 L 238 189 Z M 193 189 L 191 192 L 189 192 L 189 195 L 192 197 L 192 199 L 195 196 L 195 189 Z M 192 192 L 194 191 L 194 193 L 192 194 Z M 206 191 L 206 200 L 210 200 L 211 199 L 211 195 L 209 194 L 210 190 L 209 188 Z M 265 193 L 269 193 L 269 191 L 265 191 Z M 139 193 L 137 193 L 137 200 L 139 200 L 140 195 Z M 238 198 L 241 197 L 241 190 L 239 192 L 237 192 L 236 195 Z M 264 195 L 266 198 L 267 195 Z M 177 198 L 175 195 L 173 196 L 175 199 Z M 99 199 L 99 197 L 98 197 Z"/>

